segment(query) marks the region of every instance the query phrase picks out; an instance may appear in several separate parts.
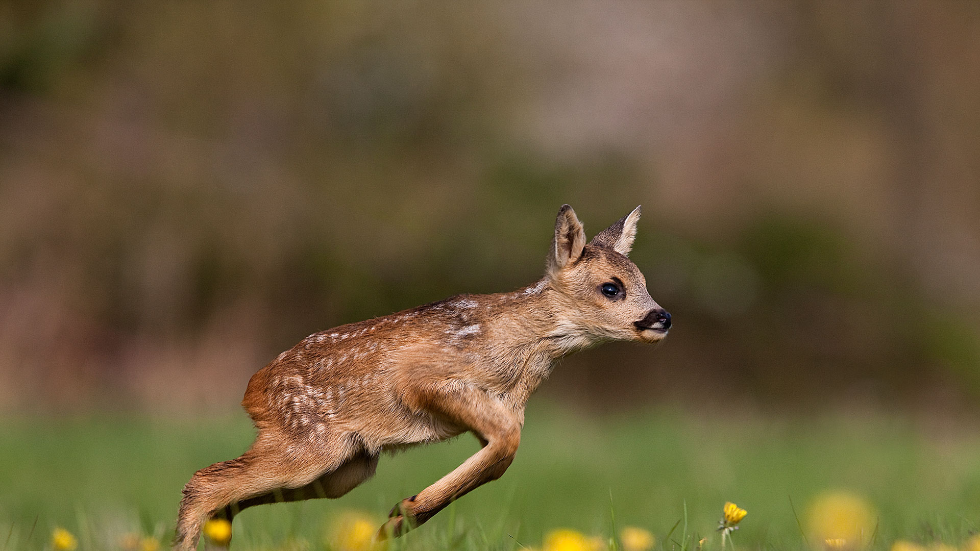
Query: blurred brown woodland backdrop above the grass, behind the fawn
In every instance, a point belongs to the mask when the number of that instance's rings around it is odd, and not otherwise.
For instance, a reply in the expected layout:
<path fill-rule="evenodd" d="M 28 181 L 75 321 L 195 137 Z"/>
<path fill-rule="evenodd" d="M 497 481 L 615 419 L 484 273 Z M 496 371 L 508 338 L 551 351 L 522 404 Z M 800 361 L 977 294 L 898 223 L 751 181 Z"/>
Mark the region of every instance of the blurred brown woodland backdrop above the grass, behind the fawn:
<path fill-rule="evenodd" d="M 980 398 L 980 3 L 0 3 L 0 412 L 227 411 L 642 204 L 590 408 Z"/>

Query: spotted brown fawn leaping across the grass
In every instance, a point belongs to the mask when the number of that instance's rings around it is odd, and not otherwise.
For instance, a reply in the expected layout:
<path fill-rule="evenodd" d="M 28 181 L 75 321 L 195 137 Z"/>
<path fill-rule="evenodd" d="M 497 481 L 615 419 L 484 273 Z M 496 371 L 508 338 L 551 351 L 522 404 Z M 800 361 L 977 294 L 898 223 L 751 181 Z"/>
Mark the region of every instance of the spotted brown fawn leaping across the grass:
<path fill-rule="evenodd" d="M 381 452 L 466 431 L 482 448 L 395 505 L 378 537 L 401 535 L 502 476 L 524 405 L 559 358 L 609 340 L 656 342 L 670 328 L 626 258 L 639 218 L 637 207 L 586 244 L 564 205 L 539 281 L 334 327 L 279 354 L 242 400 L 255 442 L 184 486 L 175 548 L 196 548 L 206 521 L 230 522 L 246 507 L 340 497 L 374 474 Z"/>

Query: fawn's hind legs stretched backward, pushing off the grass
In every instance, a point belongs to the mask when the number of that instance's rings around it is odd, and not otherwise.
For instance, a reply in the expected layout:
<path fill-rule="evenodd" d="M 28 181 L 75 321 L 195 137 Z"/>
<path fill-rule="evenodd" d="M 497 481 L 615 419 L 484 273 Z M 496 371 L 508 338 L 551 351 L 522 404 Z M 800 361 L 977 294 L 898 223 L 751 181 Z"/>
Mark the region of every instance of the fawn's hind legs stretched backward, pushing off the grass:
<path fill-rule="evenodd" d="M 318 497 L 318 487 L 328 496 L 328 491 L 343 489 L 357 475 L 363 476 L 360 483 L 373 473 L 369 459 L 355 459 L 364 454 L 359 439 L 349 434 L 308 436 L 260 430 L 252 447 L 238 459 L 195 473 L 183 488 L 174 549 L 195 549 L 206 521 L 216 517 L 230 521 L 243 503 L 246 507 L 271 503 L 279 496 L 282 501 L 309 499 Z M 350 467 L 342 469 L 352 460 Z M 329 476 L 335 472 L 341 475 Z"/>

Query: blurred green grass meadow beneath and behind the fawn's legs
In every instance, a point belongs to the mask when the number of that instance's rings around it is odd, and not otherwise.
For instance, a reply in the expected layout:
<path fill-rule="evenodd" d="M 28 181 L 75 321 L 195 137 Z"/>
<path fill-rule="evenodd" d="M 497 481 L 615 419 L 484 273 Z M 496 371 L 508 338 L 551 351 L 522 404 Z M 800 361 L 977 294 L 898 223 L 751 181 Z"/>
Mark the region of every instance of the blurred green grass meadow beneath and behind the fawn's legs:
<path fill-rule="evenodd" d="M 251 437 L 244 414 L 194 422 L 2 421 L 0 551 L 50 548 L 55 526 L 77 534 L 81 551 L 118 549 L 128 531 L 169 540 L 183 483 L 196 469 L 237 456 Z M 360 510 L 381 521 L 398 500 L 476 449 L 465 435 L 385 456 L 374 478 L 339 500 L 245 511 L 235 520 L 233 547 L 307 541 L 320 549 L 324 526 L 341 513 Z M 398 546 L 539 547 L 544 533 L 563 526 L 608 538 L 614 515 L 616 526 L 652 530 L 659 549 L 690 548 L 685 525 L 716 549 L 721 506 L 734 501 L 749 511 L 734 533 L 739 551 L 806 549 L 790 499 L 807 526 L 809 501 L 834 488 L 873 506 L 873 548 L 898 538 L 959 545 L 980 526 L 980 434 L 879 414 L 787 420 L 671 410 L 589 418 L 536 407 L 508 473 Z M 813 549 L 819 543 L 809 541 Z"/>

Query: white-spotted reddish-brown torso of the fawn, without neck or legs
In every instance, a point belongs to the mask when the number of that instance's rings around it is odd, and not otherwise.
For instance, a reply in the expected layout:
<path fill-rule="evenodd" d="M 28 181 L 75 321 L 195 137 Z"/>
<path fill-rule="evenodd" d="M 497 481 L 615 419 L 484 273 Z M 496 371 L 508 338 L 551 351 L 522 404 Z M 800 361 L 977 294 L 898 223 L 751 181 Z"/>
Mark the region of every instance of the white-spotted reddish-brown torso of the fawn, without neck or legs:
<path fill-rule="evenodd" d="M 416 411 L 401 387 L 424 376 L 478 378 L 495 296 L 460 295 L 314 333 L 252 376 L 242 406 L 260 428 L 357 432 L 378 446 L 455 435 L 461 427 Z"/>

